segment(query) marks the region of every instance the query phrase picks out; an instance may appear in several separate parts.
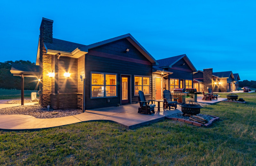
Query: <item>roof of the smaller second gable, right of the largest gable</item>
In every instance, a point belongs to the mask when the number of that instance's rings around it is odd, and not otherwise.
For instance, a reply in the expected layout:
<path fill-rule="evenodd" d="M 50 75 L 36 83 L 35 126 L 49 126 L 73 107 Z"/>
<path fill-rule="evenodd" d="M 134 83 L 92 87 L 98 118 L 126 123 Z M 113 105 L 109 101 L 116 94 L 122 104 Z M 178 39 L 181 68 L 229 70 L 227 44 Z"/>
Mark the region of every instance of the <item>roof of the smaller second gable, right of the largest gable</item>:
<path fill-rule="evenodd" d="M 159 59 L 157 62 L 159 63 L 159 67 L 172 67 L 175 63 L 177 63 L 180 59 L 184 59 L 188 66 L 192 69 L 193 72 L 197 72 L 195 66 L 191 63 L 191 61 L 188 59 L 186 54 L 178 55 L 175 57 L 169 57 L 164 59 Z"/>

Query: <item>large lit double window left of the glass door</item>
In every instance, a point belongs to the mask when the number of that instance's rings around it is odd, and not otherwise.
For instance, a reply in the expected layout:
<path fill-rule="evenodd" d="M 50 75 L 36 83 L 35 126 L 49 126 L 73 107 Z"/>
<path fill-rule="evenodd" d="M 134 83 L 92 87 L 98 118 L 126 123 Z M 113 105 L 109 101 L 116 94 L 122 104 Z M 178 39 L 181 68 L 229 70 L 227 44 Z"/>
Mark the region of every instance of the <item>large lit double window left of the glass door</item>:
<path fill-rule="evenodd" d="M 92 73 L 91 97 L 116 97 L 116 74 Z"/>

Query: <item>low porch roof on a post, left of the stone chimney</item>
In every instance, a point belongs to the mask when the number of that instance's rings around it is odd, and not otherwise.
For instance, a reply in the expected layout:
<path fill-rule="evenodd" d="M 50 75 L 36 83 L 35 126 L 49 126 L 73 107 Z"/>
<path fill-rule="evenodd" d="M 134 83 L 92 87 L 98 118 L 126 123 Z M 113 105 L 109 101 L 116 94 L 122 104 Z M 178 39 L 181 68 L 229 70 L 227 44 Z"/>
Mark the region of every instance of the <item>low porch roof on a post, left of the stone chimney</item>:
<path fill-rule="evenodd" d="M 11 73 L 14 76 L 20 76 L 21 73 L 25 77 L 39 77 L 39 66 L 34 64 L 12 64 Z"/>

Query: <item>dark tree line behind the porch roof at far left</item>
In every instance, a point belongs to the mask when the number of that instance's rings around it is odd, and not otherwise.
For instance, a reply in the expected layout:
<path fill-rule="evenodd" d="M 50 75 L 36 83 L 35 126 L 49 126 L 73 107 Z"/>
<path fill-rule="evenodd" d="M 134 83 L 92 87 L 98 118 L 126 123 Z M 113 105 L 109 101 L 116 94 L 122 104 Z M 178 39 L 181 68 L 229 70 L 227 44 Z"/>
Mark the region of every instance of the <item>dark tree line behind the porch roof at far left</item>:
<path fill-rule="evenodd" d="M 30 61 L 23 60 L 0 62 L 0 88 L 2 89 L 21 89 L 21 77 L 13 76 L 10 72 L 13 63 L 36 65 Z M 24 90 L 39 90 L 37 78 L 25 77 Z"/>

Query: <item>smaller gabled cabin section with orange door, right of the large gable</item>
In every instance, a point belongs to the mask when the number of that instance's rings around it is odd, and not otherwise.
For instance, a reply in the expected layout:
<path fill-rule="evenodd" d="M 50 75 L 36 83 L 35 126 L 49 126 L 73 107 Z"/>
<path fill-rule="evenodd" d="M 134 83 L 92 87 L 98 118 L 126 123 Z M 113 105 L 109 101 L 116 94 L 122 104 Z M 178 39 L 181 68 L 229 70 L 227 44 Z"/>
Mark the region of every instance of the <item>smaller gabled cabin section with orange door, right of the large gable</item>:
<path fill-rule="evenodd" d="M 153 99 L 161 99 L 165 89 L 173 91 L 175 88 L 193 88 L 193 72 L 197 70 L 186 54 L 159 59 L 157 62 L 158 65 L 153 66 L 152 74 Z"/>

